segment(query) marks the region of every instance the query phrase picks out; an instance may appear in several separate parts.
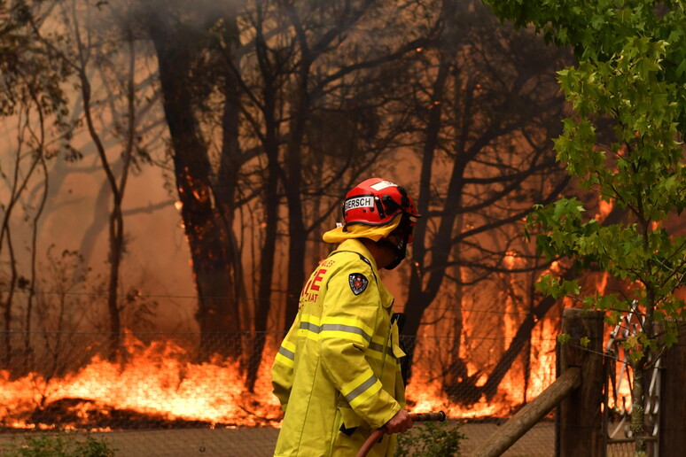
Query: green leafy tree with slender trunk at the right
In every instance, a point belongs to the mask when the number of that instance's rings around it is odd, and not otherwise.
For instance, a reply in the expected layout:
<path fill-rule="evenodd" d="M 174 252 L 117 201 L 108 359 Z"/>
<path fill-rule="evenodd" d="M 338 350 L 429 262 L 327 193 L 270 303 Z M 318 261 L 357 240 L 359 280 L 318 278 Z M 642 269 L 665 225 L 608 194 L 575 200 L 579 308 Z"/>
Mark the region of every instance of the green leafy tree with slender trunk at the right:
<path fill-rule="evenodd" d="M 572 295 L 608 311 L 608 321 L 635 310 L 641 326 L 628 341 L 635 373 L 632 432 L 643 453 L 643 372 L 674 343 L 686 318 L 677 296 L 686 272 L 686 236 L 674 218 L 686 206 L 682 136 L 686 128 L 686 14 L 681 1 L 493 3 L 516 25 L 533 23 L 551 42 L 571 46 L 579 63 L 558 72 L 573 117 L 555 140 L 557 159 L 581 186 L 626 208 L 628 220 L 602 226 L 576 199 L 537 207 L 529 227 L 550 257 L 599 267 L 627 284 L 606 295 L 579 295 L 574 283 L 544 276 L 541 290 Z M 611 128 L 604 134 L 604 127 Z M 656 331 L 654 322 L 664 321 Z"/>

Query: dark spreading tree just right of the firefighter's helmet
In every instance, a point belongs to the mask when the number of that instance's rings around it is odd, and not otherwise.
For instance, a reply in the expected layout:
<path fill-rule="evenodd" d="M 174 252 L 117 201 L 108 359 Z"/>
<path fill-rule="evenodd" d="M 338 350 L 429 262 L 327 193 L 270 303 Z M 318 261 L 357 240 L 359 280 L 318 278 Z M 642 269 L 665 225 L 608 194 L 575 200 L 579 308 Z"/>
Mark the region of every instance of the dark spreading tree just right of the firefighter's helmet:
<path fill-rule="evenodd" d="M 415 231 L 405 306 L 408 376 L 411 342 L 440 291 L 450 282 L 486 280 L 487 267 L 497 267 L 508 249 L 498 251 L 488 238 L 508 233 L 504 245 L 514 246 L 532 205 L 557 198 L 568 183 L 549 141 L 563 108 L 554 62 L 565 52 L 501 27 L 480 4 L 443 2 L 440 14 L 438 44 L 425 51 L 425 71 L 416 75 L 426 94 L 417 94 L 418 119 L 425 120 L 418 123 L 417 203 L 426 217 Z M 459 318 L 460 298 L 454 306 Z"/>

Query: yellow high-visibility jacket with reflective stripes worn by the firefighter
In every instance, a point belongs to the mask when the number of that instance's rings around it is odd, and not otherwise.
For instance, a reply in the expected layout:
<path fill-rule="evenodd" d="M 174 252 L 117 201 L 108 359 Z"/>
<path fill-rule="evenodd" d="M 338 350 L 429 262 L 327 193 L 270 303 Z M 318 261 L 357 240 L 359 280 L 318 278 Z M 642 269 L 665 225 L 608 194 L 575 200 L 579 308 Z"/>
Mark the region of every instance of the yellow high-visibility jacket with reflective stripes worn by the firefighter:
<path fill-rule="evenodd" d="M 272 366 L 285 411 L 275 456 L 355 456 L 405 407 L 393 302 L 356 239 L 315 268 Z M 368 455 L 392 455 L 394 438 L 384 435 Z"/>

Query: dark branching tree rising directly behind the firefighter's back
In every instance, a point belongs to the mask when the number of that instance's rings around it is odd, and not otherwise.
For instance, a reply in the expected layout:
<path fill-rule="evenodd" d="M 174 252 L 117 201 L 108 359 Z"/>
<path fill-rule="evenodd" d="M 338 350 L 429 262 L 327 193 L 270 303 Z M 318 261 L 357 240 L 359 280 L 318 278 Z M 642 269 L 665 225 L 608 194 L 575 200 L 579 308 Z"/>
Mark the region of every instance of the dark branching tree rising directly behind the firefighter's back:
<path fill-rule="evenodd" d="M 254 39 L 243 47 L 243 65 L 230 64 L 230 69 L 251 101 L 244 106 L 251 132 L 244 140 L 259 144 L 266 158 L 259 180 L 264 229 L 248 389 L 261 363 L 275 287 L 282 285 L 275 256 L 287 256 L 285 307 L 277 316 L 279 327 L 287 328 L 305 279 L 309 236 L 330 221 L 331 213 L 338 215 L 340 195 L 360 173 L 378 165 L 403 132 L 400 116 L 382 128 L 385 107 L 397 103 L 394 89 L 400 82 L 389 77 L 387 67 L 425 38 L 362 51 L 364 37 L 355 27 L 378 23 L 378 4 L 385 3 L 331 2 L 321 8 L 309 1 L 265 2 L 242 12 Z M 287 238 L 285 252 L 277 252 L 279 237 Z"/>

